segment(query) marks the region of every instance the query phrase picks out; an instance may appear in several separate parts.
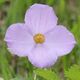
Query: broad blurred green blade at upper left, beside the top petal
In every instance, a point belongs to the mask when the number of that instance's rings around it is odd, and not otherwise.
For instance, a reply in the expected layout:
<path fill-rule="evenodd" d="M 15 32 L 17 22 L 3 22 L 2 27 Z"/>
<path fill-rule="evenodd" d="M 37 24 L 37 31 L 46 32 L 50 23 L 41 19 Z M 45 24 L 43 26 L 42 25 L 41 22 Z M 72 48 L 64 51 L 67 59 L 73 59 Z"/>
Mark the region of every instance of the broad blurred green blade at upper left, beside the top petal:
<path fill-rule="evenodd" d="M 23 22 L 26 9 L 25 0 L 12 0 L 8 17 L 6 19 L 6 26 L 13 23 Z"/>

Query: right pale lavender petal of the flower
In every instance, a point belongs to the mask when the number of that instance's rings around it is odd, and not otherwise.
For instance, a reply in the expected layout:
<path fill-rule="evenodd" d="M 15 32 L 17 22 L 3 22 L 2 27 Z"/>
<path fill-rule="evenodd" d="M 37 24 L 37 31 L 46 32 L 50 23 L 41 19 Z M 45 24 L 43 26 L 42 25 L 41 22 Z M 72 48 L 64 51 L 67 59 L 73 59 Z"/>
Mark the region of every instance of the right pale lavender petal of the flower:
<path fill-rule="evenodd" d="M 53 30 L 45 34 L 45 44 L 53 47 L 59 56 L 71 52 L 76 43 L 74 36 L 65 27 L 58 25 Z"/>

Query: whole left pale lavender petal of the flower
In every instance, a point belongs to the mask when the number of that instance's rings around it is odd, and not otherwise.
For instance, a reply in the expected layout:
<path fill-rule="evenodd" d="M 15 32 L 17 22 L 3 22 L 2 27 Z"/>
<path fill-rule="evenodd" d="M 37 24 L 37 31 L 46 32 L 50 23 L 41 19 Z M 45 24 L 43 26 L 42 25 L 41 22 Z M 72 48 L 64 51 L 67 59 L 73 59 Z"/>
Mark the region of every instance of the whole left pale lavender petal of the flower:
<path fill-rule="evenodd" d="M 27 56 L 34 44 L 29 30 L 21 23 L 13 24 L 8 28 L 5 41 L 9 51 L 18 56 Z"/>

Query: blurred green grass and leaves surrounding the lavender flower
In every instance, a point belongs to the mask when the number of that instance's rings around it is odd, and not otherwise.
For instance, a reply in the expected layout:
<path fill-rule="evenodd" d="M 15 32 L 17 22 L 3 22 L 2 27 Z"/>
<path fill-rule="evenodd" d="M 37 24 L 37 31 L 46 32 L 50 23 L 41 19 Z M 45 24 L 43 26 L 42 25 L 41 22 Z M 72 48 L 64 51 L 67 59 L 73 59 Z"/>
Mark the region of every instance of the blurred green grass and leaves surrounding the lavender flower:
<path fill-rule="evenodd" d="M 27 8 L 34 3 L 52 6 L 58 23 L 67 26 L 77 41 L 71 54 L 59 58 L 48 69 L 37 69 L 26 57 L 11 55 L 4 42 L 9 25 L 23 22 Z M 80 80 L 80 0 L 0 0 L 0 77 L 4 80 Z"/>

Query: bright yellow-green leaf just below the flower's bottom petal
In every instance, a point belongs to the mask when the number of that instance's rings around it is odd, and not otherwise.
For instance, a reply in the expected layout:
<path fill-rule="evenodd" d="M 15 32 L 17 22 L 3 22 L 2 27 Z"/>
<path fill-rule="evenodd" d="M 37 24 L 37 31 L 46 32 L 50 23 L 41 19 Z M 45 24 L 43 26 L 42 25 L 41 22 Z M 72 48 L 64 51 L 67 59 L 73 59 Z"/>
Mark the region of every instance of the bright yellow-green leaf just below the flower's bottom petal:
<path fill-rule="evenodd" d="M 50 70 L 37 69 L 35 70 L 35 73 L 46 80 L 59 80 L 59 77 L 56 75 L 56 73 Z"/>

